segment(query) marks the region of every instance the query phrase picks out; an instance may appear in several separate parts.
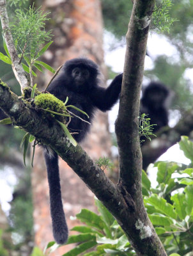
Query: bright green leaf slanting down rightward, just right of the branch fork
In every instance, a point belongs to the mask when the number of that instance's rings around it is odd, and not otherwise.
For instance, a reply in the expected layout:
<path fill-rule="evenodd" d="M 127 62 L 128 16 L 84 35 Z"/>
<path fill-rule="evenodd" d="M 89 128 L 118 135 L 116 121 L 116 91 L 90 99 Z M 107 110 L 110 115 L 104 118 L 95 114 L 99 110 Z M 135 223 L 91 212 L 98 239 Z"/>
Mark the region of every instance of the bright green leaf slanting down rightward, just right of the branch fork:
<path fill-rule="evenodd" d="M 158 209 L 163 214 L 166 214 L 167 216 L 173 218 L 176 220 L 177 214 L 174 210 L 173 205 L 166 202 L 164 198 L 159 197 L 156 194 L 152 194 L 149 198 L 145 198 L 144 202 L 147 204 L 151 204 L 155 207 L 155 209 Z"/>

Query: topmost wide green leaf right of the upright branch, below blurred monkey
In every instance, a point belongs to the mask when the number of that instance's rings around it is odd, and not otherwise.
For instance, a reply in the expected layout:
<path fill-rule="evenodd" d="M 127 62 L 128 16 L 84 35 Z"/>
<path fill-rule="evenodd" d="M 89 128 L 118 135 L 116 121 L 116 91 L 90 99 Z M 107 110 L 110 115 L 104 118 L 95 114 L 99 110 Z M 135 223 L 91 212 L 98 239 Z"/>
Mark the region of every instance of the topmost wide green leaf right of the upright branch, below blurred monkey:
<path fill-rule="evenodd" d="M 179 168 L 178 164 L 171 162 L 160 162 L 157 165 L 157 182 L 158 184 L 164 183 L 167 184 L 169 179 L 171 179 L 172 173 Z"/>

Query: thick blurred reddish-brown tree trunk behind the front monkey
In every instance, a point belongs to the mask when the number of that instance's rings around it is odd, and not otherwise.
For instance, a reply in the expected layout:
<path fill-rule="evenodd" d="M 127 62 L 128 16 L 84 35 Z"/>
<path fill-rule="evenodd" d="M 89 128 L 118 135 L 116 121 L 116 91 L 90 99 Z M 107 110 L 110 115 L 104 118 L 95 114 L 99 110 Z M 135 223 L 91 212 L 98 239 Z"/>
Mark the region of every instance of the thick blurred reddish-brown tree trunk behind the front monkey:
<path fill-rule="evenodd" d="M 39 3 L 40 1 L 38 1 Z M 40 4 L 44 10 L 50 12 L 52 20 L 47 29 L 53 29 L 52 34 L 54 35 L 54 43 L 45 53 L 44 61 L 52 67 L 58 68 L 68 59 L 84 56 L 95 61 L 105 73 L 100 1 L 68 0 L 58 4 L 58 1 L 45 0 Z M 46 74 L 42 78 L 42 85 L 45 86 L 49 79 L 50 74 Z M 104 81 L 101 85 L 104 85 Z M 99 111 L 96 113 L 91 132 L 82 145 L 89 156 L 94 159 L 109 156 L 111 140 L 108 132 L 107 113 Z M 77 223 L 70 221 L 70 216 L 75 216 L 83 207 L 95 211 L 93 193 L 64 161 L 59 162 L 59 167 L 66 219 L 69 228 L 72 228 Z M 53 240 L 53 237 L 47 175 L 40 149 L 36 150 L 32 180 L 35 244 L 44 248 L 46 243 Z M 55 252 L 54 255 L 61 255 L 65 252 L 66 247 L 60 248 L 58 254 Z"/>

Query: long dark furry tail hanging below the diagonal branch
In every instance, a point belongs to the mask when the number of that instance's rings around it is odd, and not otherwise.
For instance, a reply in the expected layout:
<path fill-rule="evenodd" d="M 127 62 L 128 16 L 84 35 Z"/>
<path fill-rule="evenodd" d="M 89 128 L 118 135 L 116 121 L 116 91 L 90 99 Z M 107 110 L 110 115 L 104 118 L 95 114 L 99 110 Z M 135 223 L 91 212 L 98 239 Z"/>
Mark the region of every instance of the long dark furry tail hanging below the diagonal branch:
<path fill-rule="evenodd" d="M 64 244 L 68 240 L 68 226 L 61 200 L 61 187 L 59 181 L 58 154 L 56 152 L 44 152 L 45 163 L 50 192 L 50 213 L 52 218 L 52 230 L 56 243 Z"/>

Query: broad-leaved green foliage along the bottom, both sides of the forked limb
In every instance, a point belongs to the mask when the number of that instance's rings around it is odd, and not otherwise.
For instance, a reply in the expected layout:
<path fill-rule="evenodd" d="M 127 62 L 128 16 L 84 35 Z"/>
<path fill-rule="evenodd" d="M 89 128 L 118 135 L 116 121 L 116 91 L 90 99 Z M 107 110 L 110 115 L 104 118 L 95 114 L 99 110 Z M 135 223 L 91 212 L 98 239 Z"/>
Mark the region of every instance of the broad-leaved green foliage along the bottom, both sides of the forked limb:
<path fill-rule="evenodd" d="M 156 188 L 151 187 L 148 176 L 144 171 L 142 173 L 144 205 L 170 256 L 187 255 L 193 250 L 193 143 L 183 136 L 179 144 L 185 156 L 192 161 L 190 166 L 173 162 L 156 163 Z M 85 225 L 72 228 L 79 234 L 70 236 L 67 244 L 79 245 L 63 256 L 135 255 L 112 214 L 98 199 L 95 199 L 95 204 L 100 215 L 88 209 L 82 209 L 76 215 Z M 50 242 L 45 250 L 53 252 L 58 247 L 55 242 Z"/>

